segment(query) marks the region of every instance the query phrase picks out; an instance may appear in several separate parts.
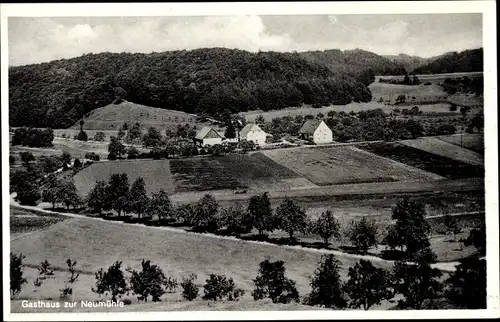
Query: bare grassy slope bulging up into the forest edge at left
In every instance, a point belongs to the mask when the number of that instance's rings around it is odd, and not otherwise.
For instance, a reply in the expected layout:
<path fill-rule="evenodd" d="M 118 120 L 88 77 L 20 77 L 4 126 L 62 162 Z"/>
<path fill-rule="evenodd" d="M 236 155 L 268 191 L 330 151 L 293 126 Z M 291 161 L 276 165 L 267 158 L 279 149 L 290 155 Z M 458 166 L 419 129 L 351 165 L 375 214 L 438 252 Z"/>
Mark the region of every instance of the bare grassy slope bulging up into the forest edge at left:
<path fill-rule="evenodd" d="M 84 130 L 116 131 L 124 122 L 129 126 L 139 122 L 143 131 L 147 131 L 150 126 L 163 131 L 166 128 L 174 129 L 179 124 L 195 125 L 196 115 L 123 101 L 92 110 L 83 121 Z M 196 125 L 202 126 L 201 123 Z M 76 122 L 71 129 L 80 129 L 80 122 Z"/>

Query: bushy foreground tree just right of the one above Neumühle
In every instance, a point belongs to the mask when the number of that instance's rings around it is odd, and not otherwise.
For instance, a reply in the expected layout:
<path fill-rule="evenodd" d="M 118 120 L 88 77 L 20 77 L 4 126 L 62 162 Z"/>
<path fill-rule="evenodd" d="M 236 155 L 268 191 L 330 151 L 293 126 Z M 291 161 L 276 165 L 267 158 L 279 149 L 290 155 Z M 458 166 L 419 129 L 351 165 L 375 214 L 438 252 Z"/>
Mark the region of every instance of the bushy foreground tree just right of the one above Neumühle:
<path fill-rule="evenodd" d="M 160 297 L 165 294 L 165 274 L 157 265 L 151 265 L 151 261 L 142 260 L 142 271 L 130 270 L 131 290 L 140 295 L 140 300 L 148 301 L 148 296 L 152 296 L 153 302 L 160 302 Z"/>

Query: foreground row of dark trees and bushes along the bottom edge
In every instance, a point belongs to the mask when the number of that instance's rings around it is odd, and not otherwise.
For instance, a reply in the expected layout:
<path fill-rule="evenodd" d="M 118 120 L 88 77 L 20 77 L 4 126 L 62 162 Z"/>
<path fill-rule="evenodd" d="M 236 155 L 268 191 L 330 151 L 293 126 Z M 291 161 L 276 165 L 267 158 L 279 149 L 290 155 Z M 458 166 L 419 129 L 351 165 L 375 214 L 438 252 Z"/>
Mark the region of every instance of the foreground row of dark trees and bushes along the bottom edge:
<path fill-rule="evenodd" d="M 17 296 L 23 284 L 22 254 L 10 254 L 10 291 Z M 401 294 L 398 300 L 400 309 L 437 308 L 437 301 L 445 298 L 457 308 L 486 308 L 486 261 L 478 259 L 464 260 L 455 272 L 440 281 L 441 271 L 431 268 L 429 263 L 395 262 L 392 270 L 375 267 L 369 260 L 359 260 L 349 268 L 347 281 L 340 278 L 342 263 L 332 254 L 323 255 L 316 270 L 310 277 L 311 291 L 302 299 L 296 288 L 296 282 L 286 277 L 283 261 L 262 261 L 258 274 L 253 279 L 254 300 L 270 298 L 273 303 L 302 302 L 311 306 L 326 308 L 362 308 L 369 310 L 382 301 L 391 301 Z M 61 299 L 68 299 L 73 294 L 73 283 L 78 279 L 76 261 L 67 260 L 70 276 L 61 289 Z M 38 290 L 48 276 L 54 275 L 50 263 L 45 260 L 39 266 L 39 276 L 33 282 Z M 161 267 L 149 260 L 142 260 L 141 270 L 126 268 L 127 277 L 122 270 L 122 262 L 116 261 L 107 270 L 101 268 L 95 273 L 95 284 L 91 290 L 101 296 L 110 296 L 116 302 L 124 295 L 135 294 L 139 301 L 161 301 L 166 293 L 175 293 L 179 284 L 182 297 L 192 301 L 199 296 L 199 286 L 195 283 L 195 274 L 184 277 L 181 283 L 165 275 Z M 237 288 L 232 278 L 225 275 L 210 274 L 203 285 L 202 299 L 212 301 L 238 301 L 246 291 Z M 131 304 L 129 299 L 123 301 Z"/>

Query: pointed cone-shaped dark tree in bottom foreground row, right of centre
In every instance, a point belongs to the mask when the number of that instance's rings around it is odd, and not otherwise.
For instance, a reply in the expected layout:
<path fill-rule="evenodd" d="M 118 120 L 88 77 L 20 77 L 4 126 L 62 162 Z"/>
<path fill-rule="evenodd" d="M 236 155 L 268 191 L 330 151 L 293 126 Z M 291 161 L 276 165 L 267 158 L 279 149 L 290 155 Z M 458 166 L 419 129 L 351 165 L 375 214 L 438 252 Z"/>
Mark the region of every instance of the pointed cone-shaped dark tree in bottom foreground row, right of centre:
<path fill-rule="evenodd" d="M 305 299 L 308 305 L 321 305 L 327 308 L 346 306 L 339 269 L 340 261 L 332 254 L 321 256 L 318 268 L 311 278 L 311 293 Z"/>

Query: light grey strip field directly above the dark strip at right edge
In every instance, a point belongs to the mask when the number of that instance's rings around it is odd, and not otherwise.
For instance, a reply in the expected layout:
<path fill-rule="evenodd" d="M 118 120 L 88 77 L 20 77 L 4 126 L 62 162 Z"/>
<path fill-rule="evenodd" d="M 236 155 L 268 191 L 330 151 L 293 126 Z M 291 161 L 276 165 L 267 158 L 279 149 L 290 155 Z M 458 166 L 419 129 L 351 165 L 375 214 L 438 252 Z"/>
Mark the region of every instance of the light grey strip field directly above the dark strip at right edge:
<path fill-rule="evenodd" d="M 484 156 L 479 153 L 439 140 L 438 138 L 426 137 L 415 140 L 405 140 L 401 141 L 401 143 L 415 149 L 437 154 L 453 160 L 479 166 L 484 165 Z"/>

